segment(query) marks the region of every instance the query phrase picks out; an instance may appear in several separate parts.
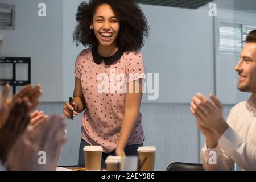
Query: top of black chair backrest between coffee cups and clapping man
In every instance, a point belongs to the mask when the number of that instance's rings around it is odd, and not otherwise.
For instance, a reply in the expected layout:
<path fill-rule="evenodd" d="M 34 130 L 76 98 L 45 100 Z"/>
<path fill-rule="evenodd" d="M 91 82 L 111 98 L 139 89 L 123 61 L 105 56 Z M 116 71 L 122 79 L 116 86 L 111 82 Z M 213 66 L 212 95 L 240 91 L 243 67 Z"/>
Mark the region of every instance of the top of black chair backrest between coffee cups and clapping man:
<path fill-rule="evenodd" d="M 166 171 L 204 171 L 202 164 L 171 163 Z"/>

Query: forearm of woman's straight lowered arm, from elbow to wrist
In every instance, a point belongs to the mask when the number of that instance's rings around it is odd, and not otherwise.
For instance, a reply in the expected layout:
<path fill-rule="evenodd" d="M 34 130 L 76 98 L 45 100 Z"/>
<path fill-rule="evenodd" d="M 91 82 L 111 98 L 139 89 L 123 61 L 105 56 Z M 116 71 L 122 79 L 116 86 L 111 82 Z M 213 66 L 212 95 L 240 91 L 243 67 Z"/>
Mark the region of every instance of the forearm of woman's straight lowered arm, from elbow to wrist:
<path fill-rule="evenodd" d="M 127 141 L 135 127 L 137 117 L 139 114 L 139 109 L 126 109 L 123 115 L 123 121 L 121 124 L 120 136 L 117 144 L 117 148 L 124 149 Z"/>

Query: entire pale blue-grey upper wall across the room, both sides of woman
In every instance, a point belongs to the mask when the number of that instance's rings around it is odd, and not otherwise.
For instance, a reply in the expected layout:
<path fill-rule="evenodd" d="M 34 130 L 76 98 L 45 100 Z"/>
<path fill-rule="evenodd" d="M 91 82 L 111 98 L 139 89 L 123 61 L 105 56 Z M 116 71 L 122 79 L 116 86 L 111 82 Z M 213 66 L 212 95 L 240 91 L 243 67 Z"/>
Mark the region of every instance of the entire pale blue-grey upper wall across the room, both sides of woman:
<path fill-rule="evenodd" d="M 31 57 L 32 84 L 42 84 L 42 101 L 67 101 L 73 93 L 75 59 L 84 49 L 76 47 L 72 38 L 81 0 L 44 1 L 46 18 L 37 15 L 40 1 L 1 2 L 16 5 L 15 30 L 1 31 L 5 34 L 3 55 Z M 216 39 L 218 36 L 208 9 L 141 7 L 151 27 L 150 37 L 142 49 L 146 72 L 159 73 L 158 100 L 148 100 L 145 94 L 143 102 L 189 103 L 197 92 L 206 95 L 214 92 L 213 35 Z M 253 15 L 219 10 L 216 22 L 223 18 L 233 21 L 236 16 L 239 22 L 255 23 Z M 217 96 L 225 104 L 234 104 L 237 97 L 245 97 L 236 90 L 235 60 L 234 55 L 216 52 Z"/>

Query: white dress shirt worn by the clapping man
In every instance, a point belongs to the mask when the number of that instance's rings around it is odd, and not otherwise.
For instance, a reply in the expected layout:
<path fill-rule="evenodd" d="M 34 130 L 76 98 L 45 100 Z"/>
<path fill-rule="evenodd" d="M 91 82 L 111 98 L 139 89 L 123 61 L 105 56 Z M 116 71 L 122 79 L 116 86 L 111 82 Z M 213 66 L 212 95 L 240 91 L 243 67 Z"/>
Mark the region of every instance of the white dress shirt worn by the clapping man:
<path fill-rule="evenodd" d="M 236 162 L 244 170 L 256 170 L 256 107 L 253 95 L 248 101 L 232 108 L 227 123 L 230 126 L 216 148 L 201 149 L 205 170 L 232 170 Z M 216 153 L 216 164 L 213 152 Z"/>

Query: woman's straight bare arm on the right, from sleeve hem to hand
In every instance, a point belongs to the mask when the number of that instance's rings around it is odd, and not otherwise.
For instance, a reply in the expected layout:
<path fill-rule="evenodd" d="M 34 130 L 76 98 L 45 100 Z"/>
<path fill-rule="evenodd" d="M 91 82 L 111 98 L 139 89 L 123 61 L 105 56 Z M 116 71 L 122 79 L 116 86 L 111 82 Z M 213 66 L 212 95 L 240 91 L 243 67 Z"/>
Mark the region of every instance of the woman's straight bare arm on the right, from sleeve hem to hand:
<path fill-rule="evenodd" d="M 123 115 L 117 149 L 115 150 L 115 154 L 118 156 L 125 156 L 125 146 L 135 127 L 143 95 L 142 85 L 142 79 L 127 84 L 128 91 L 125 98 L 125 113 Z M 139 90 L 137 89 L 138 86 Z"/>

